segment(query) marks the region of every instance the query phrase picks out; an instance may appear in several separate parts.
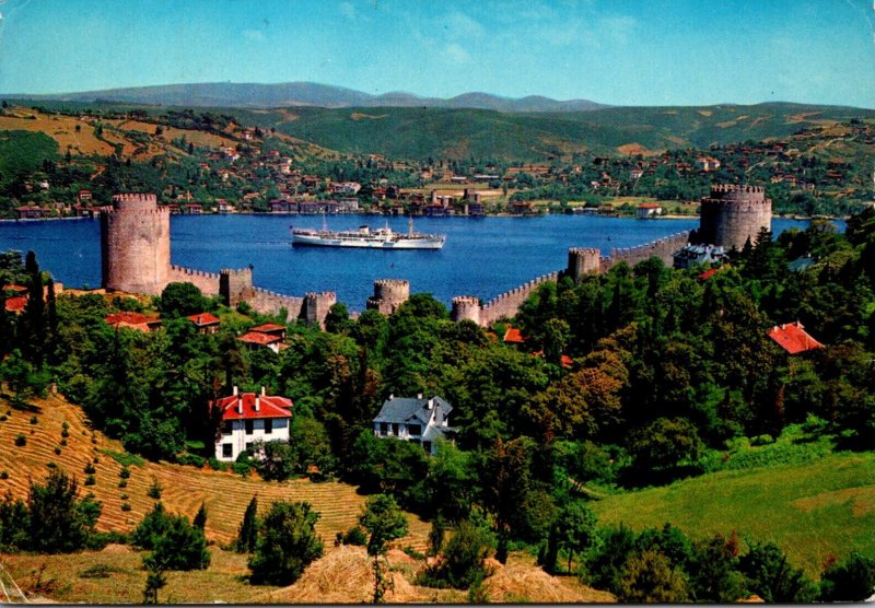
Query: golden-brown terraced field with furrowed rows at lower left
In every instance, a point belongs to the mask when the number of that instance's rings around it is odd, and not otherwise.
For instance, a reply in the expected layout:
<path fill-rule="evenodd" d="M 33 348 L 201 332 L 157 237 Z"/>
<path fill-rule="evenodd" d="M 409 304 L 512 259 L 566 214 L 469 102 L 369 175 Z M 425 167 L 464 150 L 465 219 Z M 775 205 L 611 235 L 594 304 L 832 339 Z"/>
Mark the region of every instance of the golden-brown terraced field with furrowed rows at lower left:
<path fill-rule="evenodd" d="M 36 406 L 38 411 L 32 413 L 11 410 L 0 400 L 0 413 L 8 417 L 0 422 L 0 471 L 9 476 L 0 480 L 0 494 L 9 490 L 15 498 L 26 498 L 28 480 L 40 481 L 48 472 L 47 465 L 55 463 L 79 480 L 80 492 L 92 491 L 103 502 L 97 523 L 100 530 L 133 528 L 155 502 L 148 491 L 156 480 L 163 488 L 161 500 L 168 511 L 194 517 L 201 502 L 207 505 L 207 538 L 219 543 L 234 538 L 254 495 L 258 496 L 260 508 L 267 508 L 270 502 L 279 499 L 308 501 L 322 515 L 316 530 L 330 549 L 335 534 L 354 525 L 365 500 L 354 487 L 346 483 L 265 482 L 257 476 L 243 479 L 208 468 L 145 461 L 130 466 L 127 487 L 119 488 L 122 466 L 113 457 L 113 454 L 125 456 L 119 442 L 92 432 L 81 409 L 61 397 L 39 399 Z M 36 416 L 36 424 L 31 423 L 32 416 Z M 63 422 L 69 424 L 66 446 L 60 445 Z M 15 445 L 18 435 L 26 439 L 26 445 Z M 55 453 L 56 447 L 60 448 L 60 454 Z M 95 484 L 84 487 L 84 468 L 90 461 L 96 469 Z M 130 504 L 130 511 L 122 511 L 125 503 Z M 398 546 L 424 550 L 429 524 L 412 515 L 408 518 L 410 534 L 400 539 Z"/>

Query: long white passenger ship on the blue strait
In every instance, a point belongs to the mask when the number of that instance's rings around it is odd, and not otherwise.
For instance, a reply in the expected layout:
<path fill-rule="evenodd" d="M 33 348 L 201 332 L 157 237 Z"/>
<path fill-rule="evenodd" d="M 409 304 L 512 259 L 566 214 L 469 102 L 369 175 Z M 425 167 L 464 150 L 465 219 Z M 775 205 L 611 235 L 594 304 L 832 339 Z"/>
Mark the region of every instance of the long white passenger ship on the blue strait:
<path fill-rule="evenodd" d="M 373 249 L 440 249 L 444 246 L 444 234 L 420 234 L 413 232 L 413 219 L 408 222 L 407 234 L 394 232 L 388 225 L 372 230 L 364 225 L 355 230 L 330 231 L 323 229 L 296 229 L 291 226 L 292 245 L 316 247 L 361 247 Z"/>

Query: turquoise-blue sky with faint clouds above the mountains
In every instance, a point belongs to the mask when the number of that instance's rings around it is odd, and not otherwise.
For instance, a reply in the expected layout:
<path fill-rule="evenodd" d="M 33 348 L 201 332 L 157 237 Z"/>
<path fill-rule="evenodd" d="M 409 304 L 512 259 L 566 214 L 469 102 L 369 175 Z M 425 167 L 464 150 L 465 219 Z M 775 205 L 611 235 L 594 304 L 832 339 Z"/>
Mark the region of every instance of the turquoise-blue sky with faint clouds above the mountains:
<path fill-rule="evenodd" d="M 871 0 L 0 0 L 0 93 L 313 81 L 875 108 Z"/>

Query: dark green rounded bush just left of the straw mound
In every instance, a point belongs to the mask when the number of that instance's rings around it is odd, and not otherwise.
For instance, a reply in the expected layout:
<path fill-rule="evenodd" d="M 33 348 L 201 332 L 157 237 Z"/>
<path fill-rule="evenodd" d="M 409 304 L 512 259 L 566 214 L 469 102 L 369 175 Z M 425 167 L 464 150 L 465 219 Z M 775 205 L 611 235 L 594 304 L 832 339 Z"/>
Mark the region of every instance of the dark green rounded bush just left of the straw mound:
<path fill-rule="evenodd" d="M 290 585 L 322 557 L 315 526 L 319 514 L 306 502 L 276 501 L 259 523 L 258 542 L 249 558 L 255 584 Z"/>

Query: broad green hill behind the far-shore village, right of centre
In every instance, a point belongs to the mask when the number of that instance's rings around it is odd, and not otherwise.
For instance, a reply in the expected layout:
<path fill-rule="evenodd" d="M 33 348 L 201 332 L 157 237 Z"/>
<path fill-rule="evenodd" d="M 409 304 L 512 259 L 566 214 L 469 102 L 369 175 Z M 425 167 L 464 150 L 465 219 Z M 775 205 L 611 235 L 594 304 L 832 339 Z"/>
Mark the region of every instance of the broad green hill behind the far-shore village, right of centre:
<path fill-rule="evenodd" d="M 875 110 L 797 104 L 615 107 L 591 112 L 508 114 L 443 108 L 295 108 L 240 112 L 290 136 L 347 153 L 392 157 L 546 160 L 573 152 L 617 155 L 707 148 L 790 136 L 806 127 L 873 120 Z"/>

